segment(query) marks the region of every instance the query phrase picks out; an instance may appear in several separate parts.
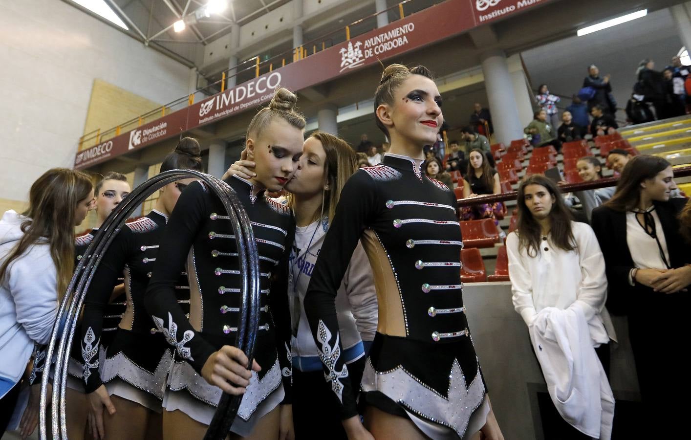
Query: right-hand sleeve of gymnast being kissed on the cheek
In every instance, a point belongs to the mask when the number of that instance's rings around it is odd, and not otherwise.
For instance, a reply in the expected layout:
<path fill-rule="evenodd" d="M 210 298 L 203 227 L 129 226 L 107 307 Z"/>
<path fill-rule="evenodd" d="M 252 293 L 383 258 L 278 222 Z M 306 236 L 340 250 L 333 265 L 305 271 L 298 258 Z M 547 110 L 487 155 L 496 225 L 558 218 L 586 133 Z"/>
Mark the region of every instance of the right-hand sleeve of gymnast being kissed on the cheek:
<path fill-rule="evenodd" d="M 276 352 L 278 353 L 278 364 L 281 366 L 281 379 L 285 397 L 281 404 L 292 403 L 292 358 L 291 358 L 291 322 L 290 307 L 288 306 L 288 259 L 290 258 L 290 248 L 295 239 L 295 227 L 292 225 L 288 230 L 285 239 L 285 250 L 278 266 L 276 275 L 272 279 L 271 295 L 269 295 L 269 311 L 274 322 L 276 337 Z"/>

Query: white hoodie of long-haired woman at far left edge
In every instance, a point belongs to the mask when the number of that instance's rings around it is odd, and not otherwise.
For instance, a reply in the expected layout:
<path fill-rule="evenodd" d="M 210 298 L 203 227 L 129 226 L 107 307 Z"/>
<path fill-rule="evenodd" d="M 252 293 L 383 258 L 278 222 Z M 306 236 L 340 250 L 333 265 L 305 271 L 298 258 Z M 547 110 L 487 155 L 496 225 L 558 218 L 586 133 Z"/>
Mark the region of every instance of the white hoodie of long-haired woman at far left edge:
<path fill-rule="evenodd" d="M 0 219 L 0 264 L 21 239 L 26 219 L 14 210 Z M 34 343 L 48 343 L 56 315 L 57 271 L 44 239 L 10 264 L 0 284 L 0 378 L 19 382 Z"/>

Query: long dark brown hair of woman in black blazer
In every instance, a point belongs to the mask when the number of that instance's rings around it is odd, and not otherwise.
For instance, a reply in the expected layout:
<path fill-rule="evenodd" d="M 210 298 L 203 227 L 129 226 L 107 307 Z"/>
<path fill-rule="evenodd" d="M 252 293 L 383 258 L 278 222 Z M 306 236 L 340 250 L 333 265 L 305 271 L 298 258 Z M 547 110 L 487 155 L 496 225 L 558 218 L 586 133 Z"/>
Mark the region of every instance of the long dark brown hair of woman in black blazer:
<path fill-rule="evenodd" d="M 671 166 L 672 164 L 661 157 L 634 156 L 621 171 L 614 196 L 603 203 L 603 206 L 618 212 L 636 208 L 641 200 L 641 182 L 655 178 L 659 172 Z"/>

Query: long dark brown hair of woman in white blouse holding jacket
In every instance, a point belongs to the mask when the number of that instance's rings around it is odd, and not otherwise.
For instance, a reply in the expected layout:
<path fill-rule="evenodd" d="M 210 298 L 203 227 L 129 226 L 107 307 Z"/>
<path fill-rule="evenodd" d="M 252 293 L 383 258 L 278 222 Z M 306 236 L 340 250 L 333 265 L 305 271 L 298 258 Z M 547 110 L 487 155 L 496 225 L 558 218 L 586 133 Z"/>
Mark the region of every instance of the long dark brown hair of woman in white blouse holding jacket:
<path fill-rule="evenodd" d="M 574 250 L 576 248 L 576 239 L 574 239 L 574 232 L 571 230 L 571 212 L 566 207 L 556 183 L 540 174 L 533 174 L 524 178 L 518 187 L 518 225 L 516 230 L 518 231 L 519 250 L 525 249 L 529 257 L 537 257 L 538 253 L 540 253 L 542 228 L 540 228 L 540 223 L 536 221 L 525 204 L 525 187 L 528 185 L 545 187 L 549 194 L 553 196 L 555 201 L 552 203 L 552 209 L 549 211 L 552 243 L 557 248 L 563 250 Z"/>

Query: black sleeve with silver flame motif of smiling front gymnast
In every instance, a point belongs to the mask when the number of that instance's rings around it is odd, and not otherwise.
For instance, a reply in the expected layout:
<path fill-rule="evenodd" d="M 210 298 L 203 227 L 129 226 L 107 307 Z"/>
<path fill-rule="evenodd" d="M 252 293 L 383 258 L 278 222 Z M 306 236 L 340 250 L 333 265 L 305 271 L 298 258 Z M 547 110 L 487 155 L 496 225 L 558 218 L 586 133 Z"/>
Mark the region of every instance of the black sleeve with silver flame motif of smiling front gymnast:
<path fill-rule="evenodd" d="M 383 206 L 383 204 L 382 204 Z M 336 295 L 363 230 L 377 210 L 377 185 L 367 172 L 357 171 L 345 183 L 336 214 L 316 260 L 305 294 L 305 314 L 319 350 L 325 380 L 341 407 L 341 419 L 357 415 L 358 384 L 351 384 L 341 354 Z"/>

